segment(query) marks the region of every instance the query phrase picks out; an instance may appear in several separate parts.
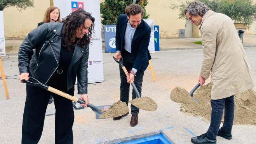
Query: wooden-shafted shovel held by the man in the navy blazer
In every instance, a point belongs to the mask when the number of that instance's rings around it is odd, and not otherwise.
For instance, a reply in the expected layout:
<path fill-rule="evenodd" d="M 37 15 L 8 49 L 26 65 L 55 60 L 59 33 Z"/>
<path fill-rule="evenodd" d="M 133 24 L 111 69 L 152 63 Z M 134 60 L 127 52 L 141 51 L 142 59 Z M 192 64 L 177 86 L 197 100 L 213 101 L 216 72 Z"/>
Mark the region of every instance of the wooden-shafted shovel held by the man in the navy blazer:
<path fill-rule="evenodd" d="M 118 64 L 120 64 L 120 66 L 121 66 L 122 69 L 124 70 L 125 75 L 128 76 L 129 73 L 128 73 L 128 71 L 126 70 L 126 68 L 124 67 L 124 64 L 123 64 L 123 57 L 121 57 L 121 62 L 117 61 L 117 59 L 115 59 L 114 56 L 113 56 L 113 59 L 114 59 Z M 135 91 L 135 93 L 136 93 L 136 97 L 140 99 L 141 96 L 139 95 L 138 89 L 136 88 L 134 82 L 131 80 L 129 83 L 131 83 L 132 88 L 134 89 L 134 91 Z M 140 99 L 140 100 L 141 100 L 141 99 Z M 152 100 L 152 101 L 153 101 L 153 100 Z M 130 102 L 130 101 L 129 101 L 129 102 Z M 153 104 L 157 106 L 157 104 L 155 103 L 155 101 L 153 101 L 153 102 L 154 102 Z M 148 105 L 148 103 L 145 103 L 145 102 L 142 102 L 142 101 L 141 101 L 141 103 L 142 103 L 141 105 Z M 151 110 L 149 110 L 149 109 L 145 109 L 145 108 L 140 107 L 140 106 L 136 106 L 136 107 L 139 108 L 139 109 L 143 109 L 143 110 L 145 110 L 145 111 L 151 111 Z M 153 111 L 155 111 L 155 110 L 156 110 L 156 109 L 154 109 Z"/>

